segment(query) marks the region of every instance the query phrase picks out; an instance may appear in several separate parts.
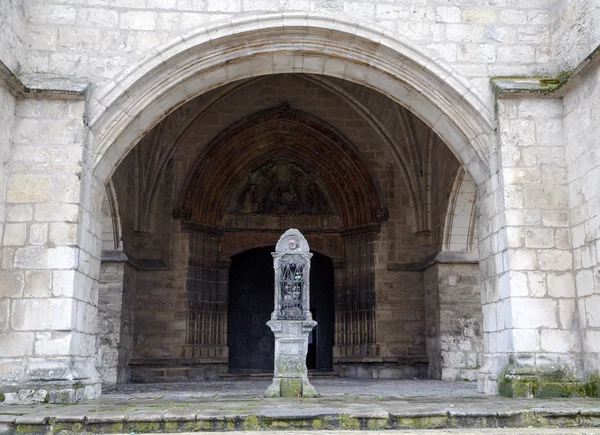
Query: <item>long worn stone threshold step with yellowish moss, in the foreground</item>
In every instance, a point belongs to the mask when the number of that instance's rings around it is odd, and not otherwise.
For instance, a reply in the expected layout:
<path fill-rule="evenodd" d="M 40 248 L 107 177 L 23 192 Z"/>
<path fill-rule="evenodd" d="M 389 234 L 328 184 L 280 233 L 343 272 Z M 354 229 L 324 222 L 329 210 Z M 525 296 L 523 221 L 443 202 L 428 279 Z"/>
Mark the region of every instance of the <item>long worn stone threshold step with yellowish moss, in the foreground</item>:
<path fill-rule="evenodd" d="M 202 404 L 124 401 L 108 407 L 90 401 L 64 407 L 46 405 L 52 410 L 38 405 L 37 411 L 30 413 L 0 408 L 0 434 L 600 427 L 598 400 L 460 398 L 454 404 L 427 399 L 369 403 L 364 399 L 245 398 L 221 408 L 216 406 L 218 400 Z M 198 409 L 208 403 L 211 408 Z"/>

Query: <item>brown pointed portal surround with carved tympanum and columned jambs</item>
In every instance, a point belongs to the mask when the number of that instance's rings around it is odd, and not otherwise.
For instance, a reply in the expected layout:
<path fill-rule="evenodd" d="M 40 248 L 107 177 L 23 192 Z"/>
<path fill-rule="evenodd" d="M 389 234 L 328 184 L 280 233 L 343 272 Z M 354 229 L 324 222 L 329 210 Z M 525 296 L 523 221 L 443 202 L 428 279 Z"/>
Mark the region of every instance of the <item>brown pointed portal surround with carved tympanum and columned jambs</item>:
<path fill-rule="evenodd" d="M 247 230 L 252 216 L 263 231 L 253 238 L 257 246 L 268 246 L 279 231 L 279 221 L 270 217 L 292 217 L 296 222 L 310 222 L 302 220 L 306 216 L 331 218 L 328 231 L 342 241 L 334 256 L 352 266 L 336 271 L 340 285 L 334 355 L 361 358 L 377 353 L 373 242 L 378 222 L 388 214 L 367 163 L 341 133 L 288 105 L 259 112 L 213 140 L 183 192 L 176 217 L 183 220 L 182 229 L 192 233 L 189 357 L 225 362 L 227 282 L 217 259 L 230 251 L 227 234 Z M 243 224 L 236 227 L 239 221 Z M 319 227 L 321 232 L 325 225 L 321 222 Z M 256 246 L 246 249 L 252 247 Z"/>

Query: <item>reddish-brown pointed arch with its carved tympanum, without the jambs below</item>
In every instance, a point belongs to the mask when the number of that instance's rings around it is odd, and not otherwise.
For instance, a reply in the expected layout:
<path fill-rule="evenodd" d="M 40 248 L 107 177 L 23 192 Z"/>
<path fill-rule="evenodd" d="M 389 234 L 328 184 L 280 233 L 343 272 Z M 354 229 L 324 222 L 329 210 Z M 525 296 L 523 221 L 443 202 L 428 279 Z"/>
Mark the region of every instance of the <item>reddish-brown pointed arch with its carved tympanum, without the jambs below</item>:
<path fill-rule="evenodd" d="M 213 140 L 188 177 L 178 213 L 216 226 L 227 211 L 339 214 L 340 226 L 352 227 L 378 221 L 383 208 L 354 146 L 323 121 L 282 106 L 249 116 Z"/>

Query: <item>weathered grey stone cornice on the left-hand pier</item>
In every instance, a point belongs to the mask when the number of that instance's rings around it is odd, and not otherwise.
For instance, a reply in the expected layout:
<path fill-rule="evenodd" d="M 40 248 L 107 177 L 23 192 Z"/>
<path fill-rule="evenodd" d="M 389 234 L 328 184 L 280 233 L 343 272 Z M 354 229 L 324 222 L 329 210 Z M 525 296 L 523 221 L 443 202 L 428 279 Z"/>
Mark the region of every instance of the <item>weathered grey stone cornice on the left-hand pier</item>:
<path fill-rule="evenodd" d="M 56 98 L 83 100 L 90 85 L 87 79 L 49 74 L 17 77 L 0 61 L 0 83 L 16 98 Z"/>

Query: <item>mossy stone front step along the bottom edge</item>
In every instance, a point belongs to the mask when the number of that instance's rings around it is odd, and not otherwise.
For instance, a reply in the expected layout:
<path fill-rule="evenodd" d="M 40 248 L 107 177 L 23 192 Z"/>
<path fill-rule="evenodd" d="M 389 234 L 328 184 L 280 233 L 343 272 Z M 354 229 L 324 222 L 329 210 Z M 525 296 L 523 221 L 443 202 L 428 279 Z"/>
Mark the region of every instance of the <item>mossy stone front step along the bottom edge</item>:
<path fill-rule="evenodd" d="M 91 404 L 90 404 L 91 405 Z M 147 408 L 135 412 L 97 410 L 69 412 L 65 407 L 54 413 L 27 415 L 0 413 L 0 434 L 72 434 L 72 433 L 176 433 L 264 430 L 388 430 L 443 428 L 527 428 L 527 427 L 599 427 L 600 407 L 595 409 L 523 409 L 497 412 L 474 408 L 454 411 L 387 412 L 381 409 L 357 411 L 325 406 L 298 408 L 240 408 L 219 412 L 188 408 Z M 280 403 L 279 403 L 280 405 Z M 335 405 L 335 404 L 333 404 Z M 6 411 L 6 409 L 4 410 Z M 96 412 L 94 412 L 96 411 Z"/>

